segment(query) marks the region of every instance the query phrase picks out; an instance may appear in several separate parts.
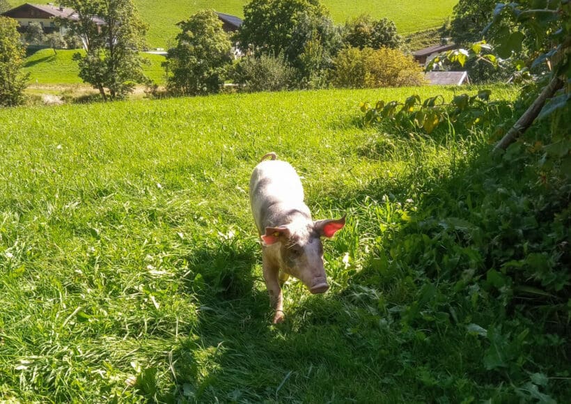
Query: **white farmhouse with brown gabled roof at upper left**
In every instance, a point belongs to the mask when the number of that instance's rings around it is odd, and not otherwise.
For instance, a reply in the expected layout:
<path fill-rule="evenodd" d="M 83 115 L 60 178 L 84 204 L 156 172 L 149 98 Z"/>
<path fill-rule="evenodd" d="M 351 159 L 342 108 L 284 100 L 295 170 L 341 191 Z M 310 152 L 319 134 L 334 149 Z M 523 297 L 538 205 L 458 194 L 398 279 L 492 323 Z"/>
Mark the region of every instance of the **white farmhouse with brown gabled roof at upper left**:
<path fill-rule="evenodd" d="M 19 22 L 19 31 L 22 32 L 26 26 L 36 22 L 42 26 L 45 33 L 60 32 L 65 34 L 65 27 L 58 26 L 57 18 L 63 20 L 79 20 L 79 16 L 72 8 L 56 6 L 54 3 L 31 4 L 25 3 L 2 13 L 4 17 L 10 17 Z M 92 17 L 97 25 L 104 25 L 105 22 L 99 17 Z"/>

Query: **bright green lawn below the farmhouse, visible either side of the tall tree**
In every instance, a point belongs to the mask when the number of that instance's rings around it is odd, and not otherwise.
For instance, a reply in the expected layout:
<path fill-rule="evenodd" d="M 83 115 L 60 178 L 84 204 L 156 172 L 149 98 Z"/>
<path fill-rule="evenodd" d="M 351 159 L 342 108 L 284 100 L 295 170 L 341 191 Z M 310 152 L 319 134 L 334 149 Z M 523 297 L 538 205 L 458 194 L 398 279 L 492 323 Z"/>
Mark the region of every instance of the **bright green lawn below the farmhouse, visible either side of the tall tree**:
<path fill-rule="evenodd" d="M 30 84 L 79 84 L 77 61 L 72 59 L 77 49 L 59 49 L 55 54 L 53 49 L 40 49 L 26 58 L 23 72 L 30 73 Z M 157 84 L 164 83 L 164 69 L 161 67 L 164 56 L 143 54 L 149 61 L 144 71 Z"/>

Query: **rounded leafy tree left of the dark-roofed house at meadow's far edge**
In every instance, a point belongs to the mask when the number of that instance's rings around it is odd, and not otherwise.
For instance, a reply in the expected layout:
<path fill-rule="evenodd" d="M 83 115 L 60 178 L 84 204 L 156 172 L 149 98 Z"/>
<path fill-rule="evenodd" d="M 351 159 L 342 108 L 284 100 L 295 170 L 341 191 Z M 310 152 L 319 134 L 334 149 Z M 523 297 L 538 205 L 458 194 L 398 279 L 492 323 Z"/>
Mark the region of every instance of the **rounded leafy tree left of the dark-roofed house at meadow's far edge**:
<path fill-rule="evenodd" d="M 176 47 L 164 67 L 169 91 L 181 95 L 217 93 L 232 59 L 230 39 L 214 10 L 201 10 L 178 23 Z"/>

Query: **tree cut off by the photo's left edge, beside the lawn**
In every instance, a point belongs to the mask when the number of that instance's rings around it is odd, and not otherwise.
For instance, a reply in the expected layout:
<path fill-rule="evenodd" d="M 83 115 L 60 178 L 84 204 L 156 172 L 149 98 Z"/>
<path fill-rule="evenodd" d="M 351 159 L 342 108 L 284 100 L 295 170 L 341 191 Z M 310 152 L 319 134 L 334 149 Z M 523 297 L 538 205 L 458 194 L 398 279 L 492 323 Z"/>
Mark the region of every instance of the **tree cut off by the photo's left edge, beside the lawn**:
<path fill-rule="evenodd" d="M 12 107 L 24 101 L 29 74 L 22 74 L 26 49 L 19 40 L 18 23 L 0 17 L 0 105 Z"/>

